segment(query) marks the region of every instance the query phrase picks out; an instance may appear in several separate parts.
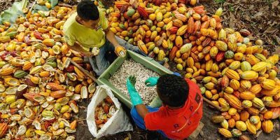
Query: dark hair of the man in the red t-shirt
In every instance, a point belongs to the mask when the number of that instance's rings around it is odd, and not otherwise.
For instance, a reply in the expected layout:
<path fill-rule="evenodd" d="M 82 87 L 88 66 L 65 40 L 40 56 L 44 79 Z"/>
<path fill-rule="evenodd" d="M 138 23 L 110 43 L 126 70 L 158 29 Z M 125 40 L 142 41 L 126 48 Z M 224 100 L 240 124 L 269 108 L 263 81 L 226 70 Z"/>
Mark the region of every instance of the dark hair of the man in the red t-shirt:
<path fill-rule="evenodd" d="M 157 90 L 162 103 L 168 106 L 183 106 L 188 99 L 188 83 L 180 76 L 173 74 L 160 76 Z"/>

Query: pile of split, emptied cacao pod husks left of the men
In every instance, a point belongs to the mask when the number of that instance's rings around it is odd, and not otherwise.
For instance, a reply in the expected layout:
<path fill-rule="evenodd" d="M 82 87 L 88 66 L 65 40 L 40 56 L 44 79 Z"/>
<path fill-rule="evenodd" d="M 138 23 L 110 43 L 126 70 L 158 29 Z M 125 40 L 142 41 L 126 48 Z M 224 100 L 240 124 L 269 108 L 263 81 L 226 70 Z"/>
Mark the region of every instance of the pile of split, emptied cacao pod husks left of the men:
<path fill-rule="evenodd" d="M 62 39 L 73 11 L 56 6 L 0 25 L 1 139 L 75 139 L 77 102 L 92 97 L 95 84 L 70 64 L 91 70 Z"/>

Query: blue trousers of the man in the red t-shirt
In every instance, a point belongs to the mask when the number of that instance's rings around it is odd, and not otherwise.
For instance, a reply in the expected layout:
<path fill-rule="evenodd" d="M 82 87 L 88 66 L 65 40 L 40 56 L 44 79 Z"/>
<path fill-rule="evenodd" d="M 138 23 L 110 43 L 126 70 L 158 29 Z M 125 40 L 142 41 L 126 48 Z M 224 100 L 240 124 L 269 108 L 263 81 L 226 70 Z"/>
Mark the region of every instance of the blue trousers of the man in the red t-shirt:
<path fill-rule="evenodd" d="M 152 108 L 151 106 L 146 106 L 146 107 L 148 109 L 148 112 L 156 112 L 159 109 L 159 108 Z M 140 127 L 141 129 L 146 130 L 144 119 L 141 116 L 139 116 L 139 113 L 137 112 L 135 107 L 132 108 L 132 110 L 130 111 L 130 114 L 132 115 L 132 119 L 134 120 L 136 125 L 138 127 Z M 162 134 L 163 137 L 167 137 L 166 134 L 164 132 L 162 132 L 161 130 L 157 130 L 157 132 Z"/>

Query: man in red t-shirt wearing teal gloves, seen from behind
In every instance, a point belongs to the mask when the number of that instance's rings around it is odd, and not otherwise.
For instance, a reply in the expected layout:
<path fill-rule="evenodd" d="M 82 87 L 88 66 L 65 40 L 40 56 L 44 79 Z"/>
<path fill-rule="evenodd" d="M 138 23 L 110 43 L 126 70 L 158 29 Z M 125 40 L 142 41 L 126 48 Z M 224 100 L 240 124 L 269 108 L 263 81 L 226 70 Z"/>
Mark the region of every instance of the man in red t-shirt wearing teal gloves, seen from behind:
<path fill-rule="evenodd" d="M 143 104 L 135 82 L 133 76 L 127 78 L 127 90 L 134 105 L 131 115 L 138 127 L 157 130 L 169 139 L 186 139 L 196 130 L 202 119 L 202 94 L 193 81 L 172 74 L 148 78 L 147 86 L 157 85 L 162 100 L 160 108 Z"/>

